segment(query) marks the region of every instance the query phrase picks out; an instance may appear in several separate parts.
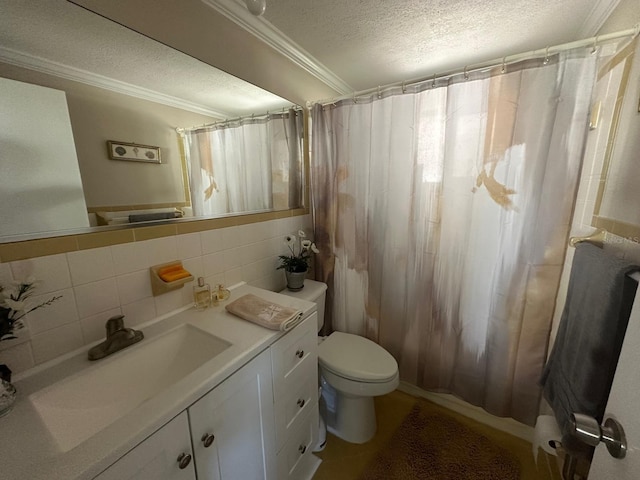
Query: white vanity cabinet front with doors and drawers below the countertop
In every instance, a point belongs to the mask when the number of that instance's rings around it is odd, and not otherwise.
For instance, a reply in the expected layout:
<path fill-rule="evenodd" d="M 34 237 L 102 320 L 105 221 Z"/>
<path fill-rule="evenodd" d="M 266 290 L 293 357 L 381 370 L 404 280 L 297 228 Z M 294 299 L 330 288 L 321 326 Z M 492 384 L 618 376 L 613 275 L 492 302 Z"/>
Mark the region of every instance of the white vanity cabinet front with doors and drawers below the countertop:
<path fill-rule="evenodd" d="M 94 480 L 310 479 L 316 324 L 313 314 Z"/>

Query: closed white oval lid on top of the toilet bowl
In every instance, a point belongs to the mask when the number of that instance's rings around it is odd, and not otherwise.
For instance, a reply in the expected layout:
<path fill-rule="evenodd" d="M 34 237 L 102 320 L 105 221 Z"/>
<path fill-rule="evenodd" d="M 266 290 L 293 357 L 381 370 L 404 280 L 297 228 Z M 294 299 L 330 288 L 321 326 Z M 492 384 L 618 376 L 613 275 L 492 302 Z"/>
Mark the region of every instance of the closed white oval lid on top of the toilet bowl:
<path fill-rule="evenodd" d="M 389 352 L 350 333 L 329 335 L 318 345 L 318 361 L 336 375 L 361 382 L 386 382 L 398 373 L 398 363 Z"/>

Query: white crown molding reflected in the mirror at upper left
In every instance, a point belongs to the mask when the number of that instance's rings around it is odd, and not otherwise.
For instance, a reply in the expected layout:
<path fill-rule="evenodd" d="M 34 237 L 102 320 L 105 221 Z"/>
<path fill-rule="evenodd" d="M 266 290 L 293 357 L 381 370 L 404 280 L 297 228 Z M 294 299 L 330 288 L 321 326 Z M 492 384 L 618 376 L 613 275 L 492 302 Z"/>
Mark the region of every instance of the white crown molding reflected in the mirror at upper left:
<path fill-rule="evenodd" d="M 112 92 L 160 103 L 169 107 L 180 108 L 182 110 L 202 115 L 217 118 L 229 118 L 230 116 L 233 116 L 229 112 L 203 107 L 202 105 L 188 102 L 171 95 L 165 95 L 163 93 L 131 85 L 130 83 L 121 82 L 119 80 L 114 80 L 113 78 L 87 72 L 86 70 L 53 62 L 34 55 L 27 55 L 11 48 L 0 46 L 0 61 L 17 67 L 66 78 L 67 80 L 73 80 L 75 82 L 92 85 L 94 87 L 104 88 L 106 90 L 111 90 Z"/>

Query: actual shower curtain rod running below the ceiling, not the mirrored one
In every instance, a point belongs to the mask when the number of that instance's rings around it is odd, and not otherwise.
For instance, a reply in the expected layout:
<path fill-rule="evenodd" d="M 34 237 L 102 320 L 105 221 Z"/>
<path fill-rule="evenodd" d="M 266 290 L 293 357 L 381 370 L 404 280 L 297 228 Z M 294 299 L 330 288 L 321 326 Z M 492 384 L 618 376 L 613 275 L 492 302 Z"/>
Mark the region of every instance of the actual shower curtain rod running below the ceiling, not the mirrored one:
<path fill-rule="evenodd" d="M 494 67 L 498 67 L 498 66 L 504 66 L 504 65 L 508 65 L 511 63 L 515 63 L 515 62 L 520 62 L 522 60 L 528 60 L 531 58 L 539 58 L 539 57 L 547 57 L 549 55 L 553 55 L 559 52 L 563 52 L 565 50 L 572 50 L 574 48 L 580 48 L 580 47 L 588 47 L 588 46 L 593 46 L 594 48 L 597 47 L 598 45 L 605 43 L 605 42 L 609 42 L 611 40 L 617 40 L 619 38 L 624 38 L 624 37 L 636 37 L 638 36 L 638 34 L 640 34 L 640 23 L 636 23 L 634 25 L 633 28 L 629 28 L 627 30 L 620 30 L 619 32 L 613 32 L 613 33 L 607 33 L 605 35 L 596 35 L 595 37 L 591 37 L 591 38 L 585 38 L 584 40 L 576 40 L 573 42 L 569 42 L 569 43 L 562 43 L 560 45 L 554 45 L 554 46 L 549 46 L 546 48 L 540 48 L 538 50 L 531 50 L 529 52 L 524 52 L 524 53 L 516 53 L 514 55 L 507 55 L 505 57 L 502 58 L 496 58 L 493 60 L 488 60 L 486 62 L 482 62 L 482 63 L 473 63 L 470 65 L 466 65 L 464 68 L 456 68 L 454 70 L 449 70 L 446 71 L 444 73 L 440 73 L 440 74 L 433 74 L 431 76 L 428 77 L 420 77 L 420 78 L 415 78 L 413 80 L 405 80 L 402 82 L 395 82 L 395 83 L 388 83 L 386 85 L 381 85 L 378 87 L 374 87 L 374 88 L 369 88 L 367 90 L 360 90 L 358 92 L 353 92 L 351 94 L 348 95 L 341 95 L 340 97 L 336 97 L 330 100 L 321 100 L 318 102 L 310 102 L 309 106 L 313 103 L 318 103 L 320 105 L 331 105 L 333 103 L 339 102 L 341 100 L 348 100 L 348 99 L 357 99 L 357 97 L 360 96 L 366 96 L 366 95 L 372 95 L 374 93 L 377 93 L 378 95 L 380 95 L 382 92 L 392 89 L 392 88 L 396 88 L 396 87 L 402 87 L 403 89 L 405 87 L 411 86 L 411 85 L 419 85 L 421 83 L 425 83 L 425 82 L 435 82 L 438 79 L 442 79 L 442 78 L 447 78 L 447 77 L 452 77 L 454 75 L 460 74 L 460 73 L 464 73 L 465 75 L 471 72 L 477 72 L 477 71 L 481 71 L 481 70 L 487 70 L 490 68 L 494 68 Z"/>

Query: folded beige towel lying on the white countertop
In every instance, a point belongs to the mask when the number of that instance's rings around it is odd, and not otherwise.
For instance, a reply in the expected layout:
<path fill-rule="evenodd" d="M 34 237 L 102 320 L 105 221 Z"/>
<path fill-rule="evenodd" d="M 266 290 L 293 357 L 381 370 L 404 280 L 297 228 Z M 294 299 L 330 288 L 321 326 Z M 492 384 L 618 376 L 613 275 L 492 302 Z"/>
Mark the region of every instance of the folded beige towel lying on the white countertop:
<path fill-rule="evenodd" d="M 228 312 L 271 330 L 291 330 L 302 320 L 302 311 L 283 307 L 248 293 L 225 306 Z"/>

